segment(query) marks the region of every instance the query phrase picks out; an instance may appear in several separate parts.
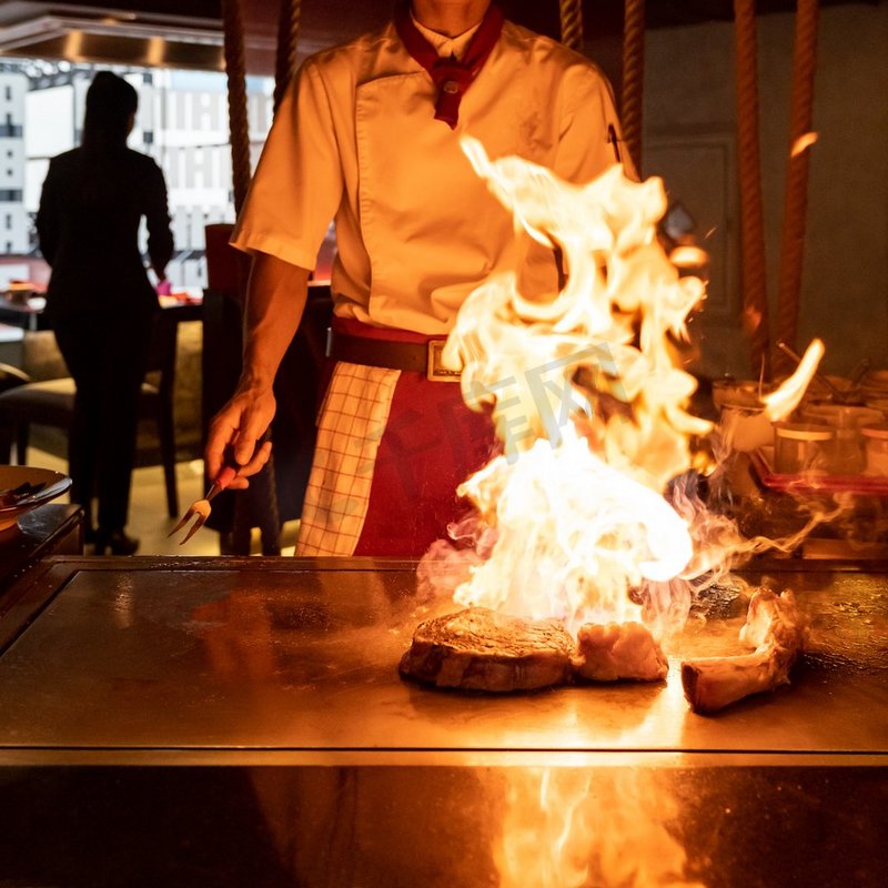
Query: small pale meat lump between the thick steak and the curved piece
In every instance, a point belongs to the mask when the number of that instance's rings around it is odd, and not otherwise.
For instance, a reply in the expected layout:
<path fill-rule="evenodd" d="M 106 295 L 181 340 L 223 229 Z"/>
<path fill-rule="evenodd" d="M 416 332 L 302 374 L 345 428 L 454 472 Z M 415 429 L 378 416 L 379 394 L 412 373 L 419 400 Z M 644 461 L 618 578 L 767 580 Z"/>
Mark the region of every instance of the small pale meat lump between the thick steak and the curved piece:
<path fill-rule="evenodd" d="M 577 633 L 574 675 L 588 682 L 659 682 L 669 662 L 640 623 L 588 623 Z"/>

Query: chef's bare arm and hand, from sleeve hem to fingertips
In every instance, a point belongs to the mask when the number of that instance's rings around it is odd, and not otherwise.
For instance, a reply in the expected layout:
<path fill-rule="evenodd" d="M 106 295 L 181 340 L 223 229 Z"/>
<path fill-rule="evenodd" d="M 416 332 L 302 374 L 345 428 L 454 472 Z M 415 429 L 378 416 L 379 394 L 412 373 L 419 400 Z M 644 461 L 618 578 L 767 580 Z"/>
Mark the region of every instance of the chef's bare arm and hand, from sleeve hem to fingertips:
<path fill-rule="evenodd" d="M 258 443 L 274 417 L 274 376 L 290 346 L 309 294 L 307 269 L 255 253 L 246 289 L 243 371 L 232 398 L 213 417 L 204 451 L 205 470 L 215 477 L 226 448 L 241 466 L 231 487 L 248 486 L 268 462 L 271 442 Z"/>

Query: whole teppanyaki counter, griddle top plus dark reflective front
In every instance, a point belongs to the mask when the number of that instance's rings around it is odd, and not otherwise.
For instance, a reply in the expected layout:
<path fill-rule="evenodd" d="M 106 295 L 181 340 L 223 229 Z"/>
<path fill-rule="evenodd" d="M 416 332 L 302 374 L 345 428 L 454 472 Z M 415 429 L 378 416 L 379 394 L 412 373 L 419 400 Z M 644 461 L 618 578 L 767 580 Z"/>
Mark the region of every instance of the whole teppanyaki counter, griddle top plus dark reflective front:
<path fill-rule="evenodd" d="M 888 565 L 763 569 L 798 592 L 813 653 L 793 687 L 702 717 L 676 663 L 503 697 L 403 682 L 410 562 L 51 561 L 0 619 L 0 872 L 529 886 L 573 805 L 591 884 L 644 865 L 635 884 L 881 886 Z"/>

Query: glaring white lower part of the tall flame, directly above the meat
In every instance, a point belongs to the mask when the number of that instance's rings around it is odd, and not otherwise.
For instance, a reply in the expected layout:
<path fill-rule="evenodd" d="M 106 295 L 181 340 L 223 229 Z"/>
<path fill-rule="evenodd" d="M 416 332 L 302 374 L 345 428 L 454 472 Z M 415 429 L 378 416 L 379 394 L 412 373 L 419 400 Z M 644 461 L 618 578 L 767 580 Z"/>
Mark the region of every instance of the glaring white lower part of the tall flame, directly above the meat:
<path fill-rule="evenodd" d="M 638 606 L 627 587 L 676 576 L 693 554 L 687 525 L 663 496 L 607 465 L 571 427 L 558 447 L 537 440 L 514 463 L 500 456 L 458 492 L 498 533 L 456 591 L 460 604 L 555 617 L 572 632 L 628 620 Z"/>

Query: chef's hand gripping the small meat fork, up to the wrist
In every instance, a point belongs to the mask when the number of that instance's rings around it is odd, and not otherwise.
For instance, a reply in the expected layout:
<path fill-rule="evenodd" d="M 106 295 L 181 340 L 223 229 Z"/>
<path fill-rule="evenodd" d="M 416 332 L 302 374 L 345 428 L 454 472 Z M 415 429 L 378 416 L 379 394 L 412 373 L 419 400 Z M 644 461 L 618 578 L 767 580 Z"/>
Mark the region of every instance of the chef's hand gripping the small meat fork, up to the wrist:
<path fill-rule="evenodd" d="M 260 438 L 271 425 L 278 404 L 271 389 L 239 386 L 234 396 L 210 423 L 206 447 L 203 452 L 206 475 L 214 478 L 222 466 L 234 457 L 238 476 L 231 490 L 250 486 L 248 477 L 255 475 L 271 456 L 271 441 L 260 444 Z"/>

